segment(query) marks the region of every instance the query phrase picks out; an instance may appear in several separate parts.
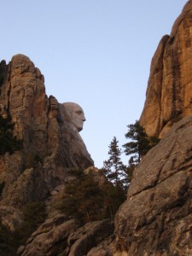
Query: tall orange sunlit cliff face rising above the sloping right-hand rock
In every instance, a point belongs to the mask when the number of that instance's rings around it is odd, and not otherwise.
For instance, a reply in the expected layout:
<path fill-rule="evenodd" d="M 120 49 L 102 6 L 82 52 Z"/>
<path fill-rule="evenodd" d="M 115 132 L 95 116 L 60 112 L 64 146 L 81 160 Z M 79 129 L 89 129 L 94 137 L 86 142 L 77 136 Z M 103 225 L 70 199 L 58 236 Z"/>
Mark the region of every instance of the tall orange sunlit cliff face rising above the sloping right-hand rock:
<path fill-rule="evenodd" d="M 140 123 L 148 135 L 163 137 L 173 123 L 192 114 L 192 1 L 164 36 L 151 61 Z"/>

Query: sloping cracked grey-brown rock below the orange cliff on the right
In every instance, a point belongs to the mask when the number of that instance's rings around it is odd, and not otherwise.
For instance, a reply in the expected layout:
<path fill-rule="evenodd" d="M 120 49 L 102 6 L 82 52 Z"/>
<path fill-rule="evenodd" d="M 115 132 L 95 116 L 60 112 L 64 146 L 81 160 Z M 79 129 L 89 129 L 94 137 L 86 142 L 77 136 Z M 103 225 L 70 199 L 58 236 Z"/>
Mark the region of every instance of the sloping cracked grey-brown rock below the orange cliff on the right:
<path fill-rule="evenodd" d="M 191 131 L 192 117 L 173 125 L 133 172 L 114 255 L 192 254 Z"/>

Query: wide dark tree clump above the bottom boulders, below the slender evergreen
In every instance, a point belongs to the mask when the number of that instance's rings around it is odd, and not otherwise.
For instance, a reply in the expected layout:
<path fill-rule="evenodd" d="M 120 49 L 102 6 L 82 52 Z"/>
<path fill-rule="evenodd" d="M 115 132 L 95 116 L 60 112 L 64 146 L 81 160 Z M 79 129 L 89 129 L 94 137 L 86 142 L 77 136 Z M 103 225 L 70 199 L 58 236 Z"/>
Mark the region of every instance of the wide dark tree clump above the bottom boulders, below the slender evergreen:
<path fill-rule="evenodd" d="M 68 183 L 62 200 L 55 205 L 68 218 L 78 218 L 80 222 L 114 218 L 120 204 L 125 201 L 122 189 L 112 183 L 102 183 L 94 177 L 93 172 L 73 170 L 75 180 Z"/>

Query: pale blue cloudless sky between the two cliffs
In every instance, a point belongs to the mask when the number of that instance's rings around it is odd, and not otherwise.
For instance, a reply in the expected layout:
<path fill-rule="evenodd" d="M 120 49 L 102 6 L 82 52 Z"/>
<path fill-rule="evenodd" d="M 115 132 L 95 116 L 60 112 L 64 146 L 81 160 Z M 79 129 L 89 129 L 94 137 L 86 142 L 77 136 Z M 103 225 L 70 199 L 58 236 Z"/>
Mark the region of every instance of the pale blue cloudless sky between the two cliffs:
<path fill-rule="evenodd" d="M 113 136 L 139 119 L 150 61 L 187 0 L 0 0 L 0 60 L 27 55 L 47 95 L 76 102 L 81 136 L 102 167 Z M 128 157 L 122 155 L 127 163 Z"/>

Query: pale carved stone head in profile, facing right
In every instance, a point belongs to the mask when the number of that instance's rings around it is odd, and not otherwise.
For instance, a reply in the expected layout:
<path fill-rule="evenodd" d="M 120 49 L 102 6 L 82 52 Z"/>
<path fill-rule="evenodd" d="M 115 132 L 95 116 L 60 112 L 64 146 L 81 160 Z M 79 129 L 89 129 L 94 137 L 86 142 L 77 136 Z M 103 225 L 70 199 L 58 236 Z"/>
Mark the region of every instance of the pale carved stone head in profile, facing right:
<path fill-rule="evenodd" d="M 76 103 L 65 102 L 62 103 L 67 113 L 68 121 L 78 130 L 83 130 L 84 121 L 84 110 Z"/>

